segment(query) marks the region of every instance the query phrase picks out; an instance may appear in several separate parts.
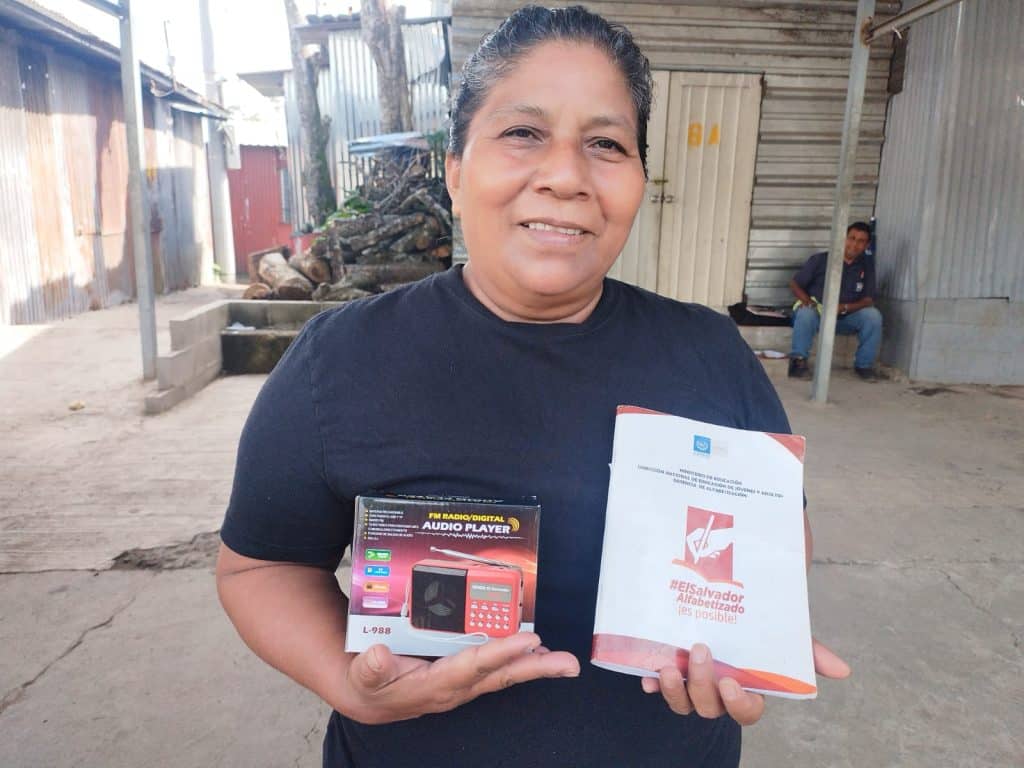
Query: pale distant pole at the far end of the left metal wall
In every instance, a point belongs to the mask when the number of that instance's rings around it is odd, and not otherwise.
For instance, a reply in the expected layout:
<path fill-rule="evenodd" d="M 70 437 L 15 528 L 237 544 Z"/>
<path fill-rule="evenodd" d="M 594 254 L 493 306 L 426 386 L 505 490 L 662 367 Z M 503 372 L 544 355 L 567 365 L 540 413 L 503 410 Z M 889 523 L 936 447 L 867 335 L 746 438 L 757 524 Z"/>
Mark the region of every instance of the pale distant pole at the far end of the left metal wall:
<path fill-rule="evenodd" d="M 220 83 L 213 52 L 213 26 L 210 22 L 210 0 L 199 3 L 200 32 L 203 38 L 203 71 L 206 73 L 206 97 L 215 103 L 222 101 Z M 227 153 L 220 121 L 207 120 L 210 142 L 207 144 L 210 168 L 210 213 L 213 218 L 213 258 L 220 279 L 234 282 L 234 233 L 231 230 L 231 190 L 227 183 Z M 209 275 L 204 275 L 207 278 Z"/>

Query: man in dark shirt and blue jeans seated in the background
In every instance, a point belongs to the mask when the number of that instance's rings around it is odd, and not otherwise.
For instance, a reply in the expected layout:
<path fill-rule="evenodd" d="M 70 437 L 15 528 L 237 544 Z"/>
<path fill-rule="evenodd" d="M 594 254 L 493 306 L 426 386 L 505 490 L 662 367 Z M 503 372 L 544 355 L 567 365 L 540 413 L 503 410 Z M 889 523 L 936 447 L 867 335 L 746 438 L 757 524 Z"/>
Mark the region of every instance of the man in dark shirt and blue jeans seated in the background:
<path fill-rule="evenodd" d="M 843 281 L 839 290 L 839 317 L 836 333 L 857 334 L 854 371 L 865 381 L 874 379 L 874 358 L 882 344 L 882 312 L 874 306 L 874 258 L 864 253 L 871 230 L 863 221 L 846 230 L 843 252 Z M 790 281 L 797 297 L 793 315 L 793 348 L 790 352 L 790 376 L 811 378 L 807 355 L 821 322 L 821 296 L 825 290 L 828 254 L 811 256 Z"/>

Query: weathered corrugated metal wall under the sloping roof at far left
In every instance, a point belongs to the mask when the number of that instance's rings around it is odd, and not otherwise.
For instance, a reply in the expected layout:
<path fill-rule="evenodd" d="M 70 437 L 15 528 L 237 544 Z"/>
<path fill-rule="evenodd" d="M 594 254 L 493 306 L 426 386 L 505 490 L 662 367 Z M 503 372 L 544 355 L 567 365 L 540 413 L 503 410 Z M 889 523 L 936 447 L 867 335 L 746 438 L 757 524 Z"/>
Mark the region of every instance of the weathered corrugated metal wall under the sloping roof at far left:
<path fill-rule="evenodd" d="M 0 323 L 43 323 L 131 298 L 117 71 L 11 31 L 0 38 Z M 145 106 L 146 210 L 157 287 L 168 291 L 196 285 L 198 255 L 212 248 L 209 205 L 194 209 L 206 155 L 199 117 L 172 115 L 148 93 Z"/>

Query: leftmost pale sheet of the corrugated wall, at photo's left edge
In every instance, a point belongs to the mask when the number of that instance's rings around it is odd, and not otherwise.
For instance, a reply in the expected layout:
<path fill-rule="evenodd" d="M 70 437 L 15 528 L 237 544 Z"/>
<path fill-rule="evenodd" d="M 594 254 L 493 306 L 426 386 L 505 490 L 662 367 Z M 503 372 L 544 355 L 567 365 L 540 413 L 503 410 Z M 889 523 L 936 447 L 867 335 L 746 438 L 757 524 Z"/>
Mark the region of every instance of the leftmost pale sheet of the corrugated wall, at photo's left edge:
<path fill-rule="evenodd" d="M 44 316 L 17 48 L 0 40 L 0 324 Z"/>

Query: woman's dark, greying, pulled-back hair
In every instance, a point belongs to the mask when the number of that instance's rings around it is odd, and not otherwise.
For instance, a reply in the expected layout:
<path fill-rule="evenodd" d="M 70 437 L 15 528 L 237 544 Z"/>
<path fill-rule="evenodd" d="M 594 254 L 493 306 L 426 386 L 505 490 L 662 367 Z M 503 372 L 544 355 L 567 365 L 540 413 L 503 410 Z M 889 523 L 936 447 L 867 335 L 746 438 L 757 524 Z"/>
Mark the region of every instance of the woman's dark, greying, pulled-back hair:
<path fill-rule="evenodd" d="M 543 8 L 527 5 L 487 35 L 462 69 L 462 83 L 452 102 L 449 152 L 462 157 L 466 132 L 495 83 L 537 45 L 547 42 L 590 43 L 608 54 L 629 85 L 637 111 L 637 145 L 647 172 L 647 118 L 654 89 L 650 62 L 622 25 L 611 24 L 581 5 Z"/>

